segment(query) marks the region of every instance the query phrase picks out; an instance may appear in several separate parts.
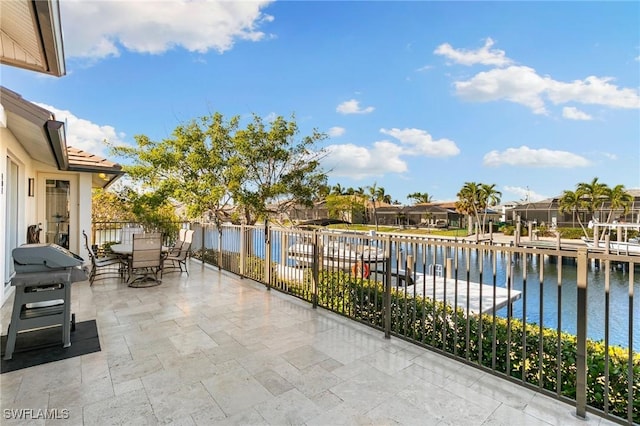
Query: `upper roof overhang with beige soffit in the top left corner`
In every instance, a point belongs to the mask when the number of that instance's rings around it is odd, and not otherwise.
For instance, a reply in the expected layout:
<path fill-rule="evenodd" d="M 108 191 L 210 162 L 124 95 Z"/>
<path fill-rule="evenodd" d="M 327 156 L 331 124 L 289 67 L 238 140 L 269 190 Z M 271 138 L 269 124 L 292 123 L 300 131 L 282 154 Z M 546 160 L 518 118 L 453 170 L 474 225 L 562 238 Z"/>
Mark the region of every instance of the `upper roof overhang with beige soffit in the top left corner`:
<path fill-rule="evenodd" d="M 66 74 L 58 0 L 0 1 L 0 63 Z"/>

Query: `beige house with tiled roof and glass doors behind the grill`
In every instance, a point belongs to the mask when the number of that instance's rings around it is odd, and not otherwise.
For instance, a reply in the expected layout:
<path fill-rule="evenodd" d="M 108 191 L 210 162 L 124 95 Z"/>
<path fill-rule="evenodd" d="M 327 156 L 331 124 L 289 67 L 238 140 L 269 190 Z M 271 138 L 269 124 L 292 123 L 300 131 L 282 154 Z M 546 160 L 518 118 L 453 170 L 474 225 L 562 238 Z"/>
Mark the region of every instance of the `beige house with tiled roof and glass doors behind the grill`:
<path fill-rule="evenodd" d="M 58 2 L 0 1 L 0 63 L 53 76 L 65 74 Z M 0 275 L 4 303 L 13 288 L 12 250 L 40 226 L 42 243 L 87 259 L 82 230 L 91 229 L 91 190 L 120 177 L 121 167 L 67 147 L 55 116 L 0 87 Z"/>

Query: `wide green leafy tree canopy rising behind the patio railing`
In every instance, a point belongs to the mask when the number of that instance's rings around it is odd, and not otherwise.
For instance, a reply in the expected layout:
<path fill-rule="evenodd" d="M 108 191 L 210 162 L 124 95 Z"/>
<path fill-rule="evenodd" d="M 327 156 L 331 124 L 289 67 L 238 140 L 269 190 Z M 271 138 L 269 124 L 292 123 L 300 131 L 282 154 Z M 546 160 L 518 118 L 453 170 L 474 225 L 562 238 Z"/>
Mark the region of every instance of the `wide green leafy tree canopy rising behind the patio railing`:
<path fill-rule="evenodd" d="M 265 125 L 254 115 L 242 129 L 238 116 L 215 113 L 176 127 L 170 138 L 138 135 L 137 146 L 112 150 L 131 160 L 125 171 L 141 193 L 184 204 L 190 218 L 206 215 L 219 225 L 240 211 L 254 223 L 293 204 L 311 206 L 326 186 L 323 151 L 313 149 L 326 136 L 297 136 L 293 118 Z"/>

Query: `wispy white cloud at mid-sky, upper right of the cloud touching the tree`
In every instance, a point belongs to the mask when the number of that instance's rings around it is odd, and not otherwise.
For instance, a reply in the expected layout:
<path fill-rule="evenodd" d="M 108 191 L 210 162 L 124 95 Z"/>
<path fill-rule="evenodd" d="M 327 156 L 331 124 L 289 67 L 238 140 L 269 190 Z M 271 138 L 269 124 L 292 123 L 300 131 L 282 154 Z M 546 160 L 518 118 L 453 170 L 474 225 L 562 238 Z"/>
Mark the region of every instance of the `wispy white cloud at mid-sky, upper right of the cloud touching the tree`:
<path fill-rule="evenodd" d="M 380 133 L 398 139 L 402 143 L 405 155 L 422 155 L 425 157 L 452 157 L 460 154 L 455 142 L 449 139 L 434 140 L 421 129 L 380 129 Z"/>

